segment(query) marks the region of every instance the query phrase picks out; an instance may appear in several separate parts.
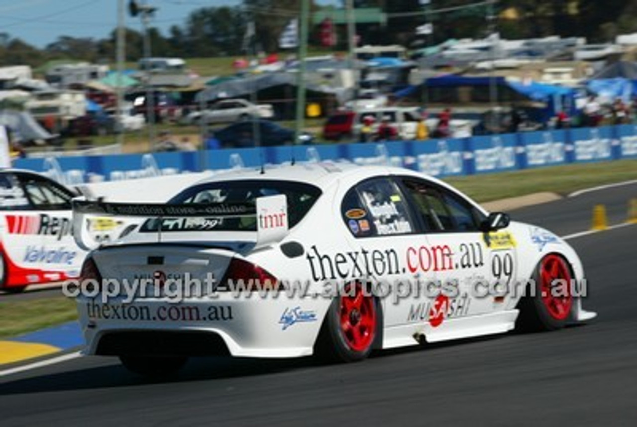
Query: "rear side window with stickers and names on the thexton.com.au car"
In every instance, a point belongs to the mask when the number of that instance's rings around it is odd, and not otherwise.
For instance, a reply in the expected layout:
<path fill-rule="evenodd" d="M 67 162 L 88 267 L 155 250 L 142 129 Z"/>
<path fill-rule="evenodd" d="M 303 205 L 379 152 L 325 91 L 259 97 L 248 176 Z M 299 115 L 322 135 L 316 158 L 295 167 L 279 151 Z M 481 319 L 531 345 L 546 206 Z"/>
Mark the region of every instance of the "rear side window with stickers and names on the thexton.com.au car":
<path fill-rule="evenodd" d="M 343 220 L 355 236 L 389 236 L 415 229 L 403 194 L 387 178 L 362 182 L 343 199 Z"/>

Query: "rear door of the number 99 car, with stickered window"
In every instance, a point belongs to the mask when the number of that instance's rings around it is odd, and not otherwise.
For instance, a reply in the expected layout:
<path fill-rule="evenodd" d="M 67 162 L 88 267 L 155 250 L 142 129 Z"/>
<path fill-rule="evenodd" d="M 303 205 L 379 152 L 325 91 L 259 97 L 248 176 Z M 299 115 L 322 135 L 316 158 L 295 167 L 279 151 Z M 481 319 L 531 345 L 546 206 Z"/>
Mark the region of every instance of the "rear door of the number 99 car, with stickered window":
<path fill-rule="evenodd" d="M 343 197 L 341 218 L 349 231 L 349 270 L 385 297 L 385 328 L 406 324 L 415 288 L 430 277 L 414 275 L 404 263 L 409 248 L 426 245 L 426 237 L 417 233 L 403 192 L 390 177 L 364 180 Z"/>

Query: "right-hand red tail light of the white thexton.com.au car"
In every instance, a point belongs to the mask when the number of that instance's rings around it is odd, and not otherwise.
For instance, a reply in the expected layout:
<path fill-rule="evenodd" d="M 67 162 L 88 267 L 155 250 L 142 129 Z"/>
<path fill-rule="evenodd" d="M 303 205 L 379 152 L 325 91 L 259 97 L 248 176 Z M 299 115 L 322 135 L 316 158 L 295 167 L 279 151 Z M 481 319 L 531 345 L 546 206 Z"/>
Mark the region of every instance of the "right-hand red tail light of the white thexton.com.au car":
<path fill-rule="evenodd" d="M 268 270 L 243 259 L 233 258 L 217 289 L 219 291 L 273 291 L 283 289 L 283 286 Z"/>

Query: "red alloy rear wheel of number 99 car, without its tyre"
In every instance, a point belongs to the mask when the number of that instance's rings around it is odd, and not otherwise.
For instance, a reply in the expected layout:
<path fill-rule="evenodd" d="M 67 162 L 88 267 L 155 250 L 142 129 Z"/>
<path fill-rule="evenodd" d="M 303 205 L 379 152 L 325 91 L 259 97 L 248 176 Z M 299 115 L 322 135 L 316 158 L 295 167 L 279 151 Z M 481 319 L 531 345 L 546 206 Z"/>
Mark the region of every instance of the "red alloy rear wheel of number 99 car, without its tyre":
<path fill-rule="evenodd" d="M 363 294 L 361 284 L 354 295 L 349 289 L 341 296 L 340 323 L 345 343 L 353 351 L 366 351 L 376 335 L 376 304 L 372 296 Z"/>

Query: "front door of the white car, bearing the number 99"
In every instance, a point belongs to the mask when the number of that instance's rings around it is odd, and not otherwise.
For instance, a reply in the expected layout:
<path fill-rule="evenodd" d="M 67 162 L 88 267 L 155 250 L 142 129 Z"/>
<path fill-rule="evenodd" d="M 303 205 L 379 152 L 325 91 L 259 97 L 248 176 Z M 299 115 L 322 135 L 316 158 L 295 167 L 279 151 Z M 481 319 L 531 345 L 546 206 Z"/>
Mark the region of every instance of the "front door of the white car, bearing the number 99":
<path fill-rule="evenodd" d="M 504 291 L 515 277 L 515 241 L 508 231 L 483 233 L 485 219 L 476 206 L 456 192 L 404 177 L 401 184 L 413 210 L 426 227 L 429 247 L 412 252 L 411 267 L 434 270 L 441 287 L 455 290 L 414 310 L 432 326 L 448 318 L 480 315 L 504 309 Z M 498 286 L 496 286 L 496 282 Z M 433 315 L 432 315 L 433 314 Z"/>

